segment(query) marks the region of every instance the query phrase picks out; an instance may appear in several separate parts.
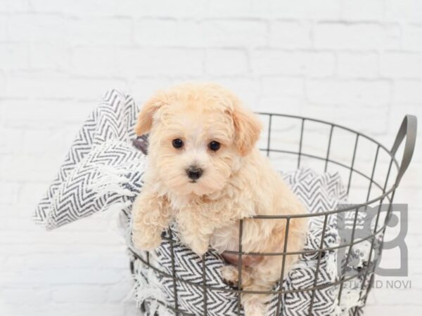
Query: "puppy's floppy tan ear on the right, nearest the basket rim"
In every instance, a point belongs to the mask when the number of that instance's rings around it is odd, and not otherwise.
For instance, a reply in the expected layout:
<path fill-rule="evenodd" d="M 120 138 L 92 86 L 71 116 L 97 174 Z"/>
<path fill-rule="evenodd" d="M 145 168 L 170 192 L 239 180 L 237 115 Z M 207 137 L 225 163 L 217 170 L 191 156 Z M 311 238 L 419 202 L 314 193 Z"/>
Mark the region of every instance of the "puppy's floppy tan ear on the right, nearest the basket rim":
<path fill-rule="evenodd" d="M 249 154 L 262 129 L 262 124 L 257 115 L 241 105 L 239 100 L 234 102 L 234 111 L 232 113 L 235 129 L 235 142 L 242 156 Z"/>

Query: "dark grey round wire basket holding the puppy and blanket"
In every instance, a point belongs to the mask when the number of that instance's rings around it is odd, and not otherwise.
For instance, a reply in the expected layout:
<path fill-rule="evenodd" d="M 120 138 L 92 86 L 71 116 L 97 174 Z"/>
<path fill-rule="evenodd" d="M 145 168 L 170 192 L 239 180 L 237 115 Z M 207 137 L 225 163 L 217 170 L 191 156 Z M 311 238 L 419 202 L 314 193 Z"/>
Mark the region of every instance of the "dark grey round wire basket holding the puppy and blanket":
<path fill-rule="evenodd" d="M 306 213 L 297 216 L 255 216 L 257 219 L 286 220 L 286 235 L 285 240 L 288 239 L 288 228 L 291 218 L 295 217 L 318 217 L 323 224 L 321 244 L 319 249 L 313 250 L 317 256 L 316 270 L 314 272 L 314 286 L 300 289 L 302 292 L 307 292 L 311 298 L 309 308 L 303 315 L 314 315 L 312 310 L 314 308 L 314 294 L 316 289 L 321 289 L 321 285 L 317 285 L 319 278 L 321 257 L 326 251 L 343 251 L 345 254 L 343 268 L 340 269 L 338 278 L 335 282 L 324 284 L 323 287 L 335 287 L 338 290 L 337 304 L 342 301 L 342 293 L 345 289 L 347 282 L 359 278 L 362 284 L 359 291 L 359 298 L 364 302 L 362 305 L 355 306 L 352 310 L 348 310 L 348 315 L 361 315 L 362 308 L 366 303 L 369 291 L 373 285 L 373 278 L 378 265 L 379 258 L 381 258 L 376 251 L 381 252 L 383 236 L 388 222 L 391 218 L 392 209 L 388 207 L 385 211 L 381 204 L 391 206 L 395 190 L 397 189 L 402 176 L 404 175 L 411 157 L 414 152 L 416 142 L 416 117 L 407 115 L 402 121 L 395 141 L 388 149 L 373 138 L 359 133 L 347 127 L 338 124 L 332 124 L 327 121 L 318 119 L 310 119 L 307 117 L 298 117 L 286 114 L 272 114 L 260 113 L 260 117 L 265 122 L 264 133 L 260 140 L 260 150 L 267 154 L 271 161 L 276 166 L 281 166 L 281 169 L 299 169 L 302 166 L 310 166 L 312 169 L 321 172 L 338 172 L 347 185 L 348 201 L 349 204 L 336 209 L 327 209 L 321 213 Z M 400 146 L 403 143 L 404 146 Z M 400 147 L 400 148 L 399 148 Z M 399 156 L 398 150 L 402 151 L 402 158 L 397 159 Z M 364 236 L 357 237 L 355 232 L 359 223 L 359 216 L 366 213 L 368 209 L 376 210 L 371 223 L 371 230 Z M 324 236 L 326 234 L 326 227 L 329 219 L 332 216 L 339 216 L 340 214 L 349 214 L 349 220 L 352 223 L 350 231 L 350 239 L 347 242 L 340 242 L 335 247 L 324 246 Z M 229 251 L 231 254 L 238 256 L 238 271 L 241 275 L 241 262 L 242 255 L 246 255 L 242 251 L 242 232 L 243 220 L 239 223 L 239 242 L 238 251 Z M 172 232 L 170 230 L 171 251 L 173 251 Z M 352 249 L 354 246 L 362 243 L 369 242 L 370 250 L 368 258 L 366 258 L 364 268 L 359 269 L 356 273 L 350 275 L 347 273 L 346 267 L 351 260 Z M 381 246 L 380 245 L 381 242 Z M 283 270 L 286 256 L 295 254 L 305 254 L 307 251 L 288 252 L 286 251 L 287 242 L 284 244 L 284 249 L 279 253 L 254 253 L 248 256 L 279 256 L 281 258 L 281 279 L 283 279 Z M 378 248 L 377 246 L 378 245 Z M 377 248 L 377 249 L 376 249 Z M 309 251 L 308 251 L 309 252 Z M 133 252 L 137 260 L 141 260 L 148 268 L 155 270 L 156 273 L 165 274 L 160 268 L 150 264 L 147 259 L 142 258 Z M 173 252 L 171 253 L 173 261 Z M 131 265 L 132 271 L 134 270 L 133 263 Z M 189 311 L 183 310 L 178 305 L 176 282 L 183 284 L 188 280 L 178 277 L 172 268 L 171 277 L 174 282 L 174 304 L 167 305 L 167 308 L 172 310 L 175 315 L 194 315 Z M 198 285 L 203 288 L 203 305 L 205 306 L 205 315 L 207 314 L 207 293 L 209 291 L 222 291 L 222 289 L 215 289 L 205 282 L 205 272 L 203 271 L 203 284 Z M 363 280 L 363 281 L 362 281 Z M 281 282 L 282 283 L 282 282 Z M 281 297 L 288 294 L 288 291 L 283 291 L 280 287 L 272 291 L 243 291 L 241 289 L 241 277 L 239 277 L 238 287 L 230 290 L 238 296 L 238 309 L 237 315 L 242 315 L 241 308 L 241 294 L 271 294 L 278 296 L 277 305 L 281 304 Z M 141 306 L 141 310 L 145 311 L 145 306 Z M 279 308 L 276 310 L 276 315 L 279 315 Z M 301 314 L 302 315 L 302 314 Z"/>

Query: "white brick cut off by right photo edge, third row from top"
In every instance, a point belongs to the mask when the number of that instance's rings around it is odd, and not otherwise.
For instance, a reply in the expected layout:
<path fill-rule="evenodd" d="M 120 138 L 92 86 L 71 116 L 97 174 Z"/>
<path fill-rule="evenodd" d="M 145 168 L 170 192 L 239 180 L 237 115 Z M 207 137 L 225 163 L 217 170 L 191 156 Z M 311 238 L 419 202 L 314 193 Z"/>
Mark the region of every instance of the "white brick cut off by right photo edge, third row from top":
<path fill-rule="evenodd" d="M 422 54 L 383 53 L 380 58 L 381 74 L 392 78 L 420 78 Z"/>

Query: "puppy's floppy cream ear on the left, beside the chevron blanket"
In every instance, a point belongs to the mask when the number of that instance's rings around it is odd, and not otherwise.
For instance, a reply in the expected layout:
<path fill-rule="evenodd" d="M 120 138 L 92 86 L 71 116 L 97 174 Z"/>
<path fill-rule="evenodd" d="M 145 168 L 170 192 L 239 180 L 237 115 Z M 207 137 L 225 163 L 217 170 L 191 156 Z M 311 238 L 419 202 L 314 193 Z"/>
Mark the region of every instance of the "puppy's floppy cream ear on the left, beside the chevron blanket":
<path fill-rule="evenodd" d="M 167 104 L 167 96 L 162 91 L 155 93 L 153 98 L 146 101 L 139 112 L 138 122 L 135 126 L 136 135 L 141 136 L 151 130 L 155 112 L 165 104 Z"/>

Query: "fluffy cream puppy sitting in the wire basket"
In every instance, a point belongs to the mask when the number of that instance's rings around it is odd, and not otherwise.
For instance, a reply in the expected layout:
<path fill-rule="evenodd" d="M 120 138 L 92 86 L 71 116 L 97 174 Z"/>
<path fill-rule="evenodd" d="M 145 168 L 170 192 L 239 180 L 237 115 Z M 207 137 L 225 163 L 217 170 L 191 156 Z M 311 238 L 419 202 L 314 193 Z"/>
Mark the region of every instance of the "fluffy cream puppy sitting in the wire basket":
<path fill-rule="evenodd" d="M 153 250 L 161 232 L 176 220 L 179 237 L 198 256 L 209 246 L 238 251 L 283 252 L 286 219 L 252 219 L 257 215 L 294 215 L 305 209 L 255 147 L 261 124 L 233 93 L 217 84 L 181 84 L 157 93 L 139 114 L 136 133 L 149 133 L 148 169 L 133 206 L 136 248 Z M 291 218 L 287 251 L 305 243 L 306 218 Z M 237 256 L 226 254 L 237 263 Z M 297 255 L 285 259 L 284 275 Z M 270 291 L 281 276 L 283 256 L 245 256 L 242 289 Z M 238 269 L 222 275 L 238 282 Z M 247 316 L 262 316 L 271 296 L 243 294 Z"/>

